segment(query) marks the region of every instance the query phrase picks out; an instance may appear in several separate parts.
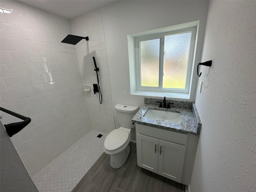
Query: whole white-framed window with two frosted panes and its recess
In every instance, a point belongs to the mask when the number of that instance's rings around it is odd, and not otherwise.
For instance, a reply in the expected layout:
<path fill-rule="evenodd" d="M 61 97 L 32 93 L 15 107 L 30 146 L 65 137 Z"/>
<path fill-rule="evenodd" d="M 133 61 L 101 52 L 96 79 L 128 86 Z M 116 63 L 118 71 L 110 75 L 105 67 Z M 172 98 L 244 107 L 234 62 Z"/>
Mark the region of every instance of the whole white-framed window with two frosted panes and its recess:
<path fill-rule="evenodd" d="M 194 100 L 197 75 L 193 71 L 203 42 L 199 22 L 127 35 L 132 95 Z"/>

